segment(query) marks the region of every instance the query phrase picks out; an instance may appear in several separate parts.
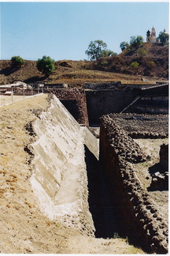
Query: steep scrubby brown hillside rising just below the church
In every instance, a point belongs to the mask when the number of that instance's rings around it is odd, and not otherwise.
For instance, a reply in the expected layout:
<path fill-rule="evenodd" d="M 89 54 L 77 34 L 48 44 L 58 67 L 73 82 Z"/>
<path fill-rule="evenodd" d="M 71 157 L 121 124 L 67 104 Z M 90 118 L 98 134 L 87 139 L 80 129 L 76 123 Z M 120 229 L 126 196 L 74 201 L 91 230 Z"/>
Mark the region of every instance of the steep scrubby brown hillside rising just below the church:
<path fill-rule="evenodd" d="M 138 62 L 139 66 L 131 66 L 132 62 Z M 168 79 L 168 46 L 143 43 L 142 47 L 135 51 L 125 49 L 116 57 L 99 58 L 98 67 L 109 72 Z"/>

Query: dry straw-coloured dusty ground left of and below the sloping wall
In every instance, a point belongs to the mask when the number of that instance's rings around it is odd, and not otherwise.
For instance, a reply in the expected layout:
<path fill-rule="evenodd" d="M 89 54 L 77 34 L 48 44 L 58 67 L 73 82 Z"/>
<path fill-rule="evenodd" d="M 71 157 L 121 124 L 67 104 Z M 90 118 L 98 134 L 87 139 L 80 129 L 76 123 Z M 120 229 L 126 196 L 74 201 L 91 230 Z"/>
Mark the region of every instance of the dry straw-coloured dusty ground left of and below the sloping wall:
<path fill-rule="evenodd" d="M 24 151 L 31 141 L 25 125 L 36 119 L 34 109 L 47 106 L 42 94 L 0 108 L 0 253 L 142 254 L 125 239 L 84 236 L 39 211 L 29 181 L 29 156 Z"/>

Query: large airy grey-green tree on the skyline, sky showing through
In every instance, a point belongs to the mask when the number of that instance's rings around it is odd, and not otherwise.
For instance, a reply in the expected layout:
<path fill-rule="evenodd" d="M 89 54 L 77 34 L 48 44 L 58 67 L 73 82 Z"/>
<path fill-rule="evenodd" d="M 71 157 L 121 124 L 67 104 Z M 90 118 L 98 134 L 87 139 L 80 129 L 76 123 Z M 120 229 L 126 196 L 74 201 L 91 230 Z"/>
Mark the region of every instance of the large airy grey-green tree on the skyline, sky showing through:
<path fill-rule="evenodd" d="M 85 54 L 90 60 L 97 60 L 102 57 L 102 51 L 106 50 L 107 44 L 102 40 L 91 41 Z"/>

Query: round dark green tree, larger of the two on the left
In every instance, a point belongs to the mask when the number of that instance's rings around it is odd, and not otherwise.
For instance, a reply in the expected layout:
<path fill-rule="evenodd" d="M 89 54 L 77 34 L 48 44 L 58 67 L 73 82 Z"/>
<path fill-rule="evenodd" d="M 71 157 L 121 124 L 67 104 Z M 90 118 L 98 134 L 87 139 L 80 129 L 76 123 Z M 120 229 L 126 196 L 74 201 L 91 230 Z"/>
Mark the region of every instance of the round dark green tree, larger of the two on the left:
<path fill-rule="evenodd" d="M 54 59 L 50 58 L 49 56 L 43 56 L 42 58 L 39 58 L 36 62 L 36 67 L 40 72 L 44 73 L 46 76 L 49 76 L 50 73 L 54 72 L 54 64 Z"/>

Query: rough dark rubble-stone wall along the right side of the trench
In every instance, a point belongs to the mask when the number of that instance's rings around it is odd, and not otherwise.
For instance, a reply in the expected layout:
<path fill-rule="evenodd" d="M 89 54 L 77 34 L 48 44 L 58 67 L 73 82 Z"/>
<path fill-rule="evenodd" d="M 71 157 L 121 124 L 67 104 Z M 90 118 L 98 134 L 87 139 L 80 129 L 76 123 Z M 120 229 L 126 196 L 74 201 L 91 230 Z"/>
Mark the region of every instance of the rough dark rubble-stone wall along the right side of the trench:
<path fill-rule="evenodd" d="M 146 160 L 118 122 L 105 115 L 101 119 L 100 160 L 113 195 L 113 205 L 121 216 L 122 229 L 129 241 L 149 253 L 168 253 L 168 224 L 158 214 L 133 165 Z"/>

